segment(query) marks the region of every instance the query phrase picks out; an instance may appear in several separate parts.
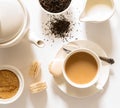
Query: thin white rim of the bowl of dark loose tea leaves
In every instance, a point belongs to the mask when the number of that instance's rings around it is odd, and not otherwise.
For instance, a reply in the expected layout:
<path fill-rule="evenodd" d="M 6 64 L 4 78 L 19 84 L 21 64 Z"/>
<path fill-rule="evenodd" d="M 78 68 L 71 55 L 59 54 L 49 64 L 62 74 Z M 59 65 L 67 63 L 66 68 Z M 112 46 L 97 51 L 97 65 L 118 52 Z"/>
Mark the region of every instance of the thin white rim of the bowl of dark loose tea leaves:
<path fill-rule="evenodd" d="M 50 14 L 50 15 L 60 15 L 60 14 L 65 13 L 65 12 L 68 11 L 69 8 L 71 7 L 72 1 L 73 1 L 73 0 L 70 1 L 70 4 L 68 5 L 68 7 L 67 7 L 66 9 L 64 9 L 64 10 L 61 11 L 61 12 L 56 12 L 56 13 L 55 13 L 55 12 L 50 12 L 50 11 L 47 11 L 46 9 L 44 9 L 44 7 L 41 5 L 40 1 L 38 0 L 38 2 L 39 2 L 39 4 L 40 4 L 40 8 L 42 9 L 42 11 L 45 12 L 45 13 L 47 13 L 47 14 Z"/>

